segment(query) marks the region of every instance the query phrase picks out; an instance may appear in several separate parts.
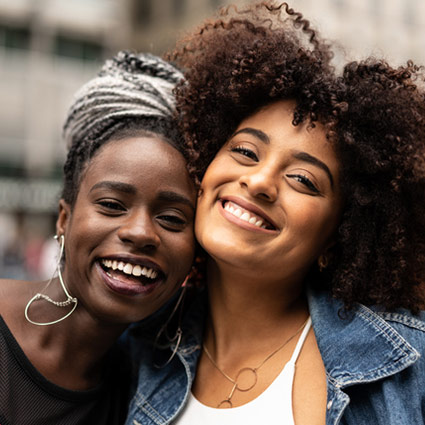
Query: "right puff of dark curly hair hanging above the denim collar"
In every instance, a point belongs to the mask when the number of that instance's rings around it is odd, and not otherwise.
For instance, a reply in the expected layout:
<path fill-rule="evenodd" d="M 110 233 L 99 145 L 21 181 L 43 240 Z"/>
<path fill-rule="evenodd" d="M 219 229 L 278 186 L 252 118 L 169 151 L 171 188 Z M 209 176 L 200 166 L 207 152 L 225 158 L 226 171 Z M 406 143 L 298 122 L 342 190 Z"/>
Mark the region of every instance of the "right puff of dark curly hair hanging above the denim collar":
<path fill-rule="evenodd" d="M 345 211 L 333 293 L 417 311 L 425 282 L 423 70 L 368 59 L 345 66 L 335 126 Z"/>

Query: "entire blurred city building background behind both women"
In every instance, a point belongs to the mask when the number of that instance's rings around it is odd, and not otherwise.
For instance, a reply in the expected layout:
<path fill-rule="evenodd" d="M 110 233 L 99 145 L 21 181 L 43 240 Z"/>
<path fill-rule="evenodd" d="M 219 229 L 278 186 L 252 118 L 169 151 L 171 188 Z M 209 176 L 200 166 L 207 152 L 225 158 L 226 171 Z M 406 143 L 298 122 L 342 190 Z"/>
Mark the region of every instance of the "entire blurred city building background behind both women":
<path fill-rule="evenodd" d="M 161 55 L 218 7 L 243 0 L 0 0 L 0 278 L 49 278 L 73 93 L 120 49 Z M 425 64 L 425 0 L 293 0 L 336 43 Z"/>

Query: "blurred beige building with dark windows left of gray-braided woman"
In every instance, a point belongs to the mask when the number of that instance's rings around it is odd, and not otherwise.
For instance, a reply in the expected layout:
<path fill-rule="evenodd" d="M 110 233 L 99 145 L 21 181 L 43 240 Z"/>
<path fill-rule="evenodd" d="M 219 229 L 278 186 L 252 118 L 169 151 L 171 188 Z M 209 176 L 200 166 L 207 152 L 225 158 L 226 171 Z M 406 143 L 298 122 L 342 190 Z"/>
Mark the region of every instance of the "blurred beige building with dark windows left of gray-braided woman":
<path fill-rule="evenodd" d="M 121 44 L 117 3 L 0 0 L 0 277 L 37 274 L 54 234 L 65 111 Z"/>

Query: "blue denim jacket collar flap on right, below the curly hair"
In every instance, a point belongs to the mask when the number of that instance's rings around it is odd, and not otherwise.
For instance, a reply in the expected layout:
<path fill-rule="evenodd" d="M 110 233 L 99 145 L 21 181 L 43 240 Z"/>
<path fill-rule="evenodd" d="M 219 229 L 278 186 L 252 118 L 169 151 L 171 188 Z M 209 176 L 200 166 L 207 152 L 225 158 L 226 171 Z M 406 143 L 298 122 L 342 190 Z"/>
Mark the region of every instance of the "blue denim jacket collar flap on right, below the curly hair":
<path fill-rule="evenodd" d="M 393 375 L 420 357 L 379 313 L 368 307 L 358 305 L 347 313 L 347 318 L 338 320 L 342 304 L 328 294 L 310 291 L 308 302 L 325 369 L 338 388 Z"/>

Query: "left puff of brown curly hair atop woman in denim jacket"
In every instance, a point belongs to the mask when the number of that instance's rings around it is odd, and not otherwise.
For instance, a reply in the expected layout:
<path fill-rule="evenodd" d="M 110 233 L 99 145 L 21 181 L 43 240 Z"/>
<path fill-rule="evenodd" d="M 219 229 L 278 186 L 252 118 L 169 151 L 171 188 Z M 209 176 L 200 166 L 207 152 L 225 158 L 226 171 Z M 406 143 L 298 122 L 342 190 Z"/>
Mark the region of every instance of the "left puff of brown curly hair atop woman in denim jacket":
<path fill-rule="evenodd" d="M 294 123 L 316 120 L 317 91 L 332 53 L 286 3 L 224 8 L 178 42 L 169 60 L 185 69 L 177 89 L 183 132 L 199 179 L 243 118 L 282 98 L 297 100 Z"/>

